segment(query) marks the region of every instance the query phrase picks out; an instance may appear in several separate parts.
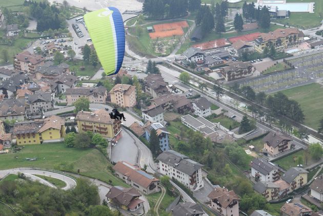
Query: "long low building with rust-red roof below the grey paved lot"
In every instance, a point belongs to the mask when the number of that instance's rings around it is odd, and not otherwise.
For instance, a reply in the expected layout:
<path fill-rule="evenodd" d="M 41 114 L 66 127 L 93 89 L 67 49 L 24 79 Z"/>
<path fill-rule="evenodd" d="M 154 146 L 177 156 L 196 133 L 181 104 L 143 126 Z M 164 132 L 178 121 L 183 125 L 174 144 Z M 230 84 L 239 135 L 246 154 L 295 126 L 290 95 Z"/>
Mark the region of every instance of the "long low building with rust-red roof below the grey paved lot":
<path fill-rule="evenodd" d="M 119 161 L 113 166 L 114 174 L 144 194 L 158 192 L 159 180 L 147 172 L 140 170 L 125 161 Z"/>

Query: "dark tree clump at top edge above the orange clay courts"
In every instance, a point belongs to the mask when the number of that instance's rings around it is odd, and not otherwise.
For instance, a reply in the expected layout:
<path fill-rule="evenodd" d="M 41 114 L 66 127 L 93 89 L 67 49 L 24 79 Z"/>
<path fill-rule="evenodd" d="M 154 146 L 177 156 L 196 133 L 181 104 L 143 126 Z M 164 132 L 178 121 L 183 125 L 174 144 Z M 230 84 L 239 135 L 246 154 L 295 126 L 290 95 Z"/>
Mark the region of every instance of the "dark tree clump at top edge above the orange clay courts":
<path fill-rule="evenodd" d="M 188 8 L 194 9 L 197 4 L 198 1 L 194 0 L 146 0 L 143 13 L 149 18 L 175 18 L 186 15 Z"/>

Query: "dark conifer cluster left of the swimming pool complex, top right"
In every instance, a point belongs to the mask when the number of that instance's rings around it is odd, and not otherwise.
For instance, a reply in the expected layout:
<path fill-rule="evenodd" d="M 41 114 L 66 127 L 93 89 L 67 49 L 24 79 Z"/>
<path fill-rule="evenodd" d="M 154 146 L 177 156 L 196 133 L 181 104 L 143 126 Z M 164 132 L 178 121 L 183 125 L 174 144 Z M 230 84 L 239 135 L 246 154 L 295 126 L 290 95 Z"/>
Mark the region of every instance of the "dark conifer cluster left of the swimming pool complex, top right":
<path fill-rule="evenodd" d="M 270 27 L 270 13 L 266 6 L 263 8 L 255 8 L 254 3 L 243 5 L 243 15 L 249 20 L 253 21 L 254 19 L 258 22 L 258 25 L 261 28 L 268 29 Z"/>

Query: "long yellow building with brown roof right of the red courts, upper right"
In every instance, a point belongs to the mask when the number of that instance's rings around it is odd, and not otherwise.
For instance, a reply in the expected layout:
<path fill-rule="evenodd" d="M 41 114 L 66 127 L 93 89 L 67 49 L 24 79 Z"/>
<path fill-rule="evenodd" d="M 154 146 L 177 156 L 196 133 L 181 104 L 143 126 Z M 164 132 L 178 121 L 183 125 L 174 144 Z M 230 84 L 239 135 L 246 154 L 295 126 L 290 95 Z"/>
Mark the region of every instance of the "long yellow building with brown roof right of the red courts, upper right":
<path fill-rule="evenodd" d="M 304 33 L 296 28 L 276 29 L 273 32 L 261 33 L 255 39 L 255 50 L 263 53 L 265 47 L 270 49 L 274 45 L 276 51 L 283 51 L 288 46 L 299 44 L 303 40 Z"/>

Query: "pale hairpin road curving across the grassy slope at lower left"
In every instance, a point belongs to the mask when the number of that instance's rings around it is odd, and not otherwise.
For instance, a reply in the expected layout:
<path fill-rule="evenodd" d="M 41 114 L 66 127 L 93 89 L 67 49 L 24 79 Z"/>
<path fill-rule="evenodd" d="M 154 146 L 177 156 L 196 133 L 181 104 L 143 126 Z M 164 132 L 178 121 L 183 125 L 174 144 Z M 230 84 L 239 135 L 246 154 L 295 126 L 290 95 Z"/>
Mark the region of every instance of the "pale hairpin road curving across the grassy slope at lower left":
<path fill-rule="evenodd" d="M 40 183 L 47 185 L 49 187 L 56 188 L 56 186 L 52 185 L 51 183 L 45 181 L 42 178 L 39 178 L 38 176 L 35 176 L 34 174 L 37 175 L 45 175 L 49 176 L 51 178 L 59 179 L 65 182 L 66 186 L 62 188 L 63 190 L 69 190 L 72 189 L 76 186 L 75 180 L 70 178 L 69 176 L 59 174 L 56 172 L 49 172 L 45 170 L 33 170 L 33 169 L 25 169 L 25 168 L 17 168 L 17 169 L 7 169 L 7 170 L 0 170 L 0 175 L 6 175 L 8 173 L 10 174 L 17 174 L 18 172 L 24 173 L 26 176 L 32 179 L 32 181 L 39 181 Z"/>

